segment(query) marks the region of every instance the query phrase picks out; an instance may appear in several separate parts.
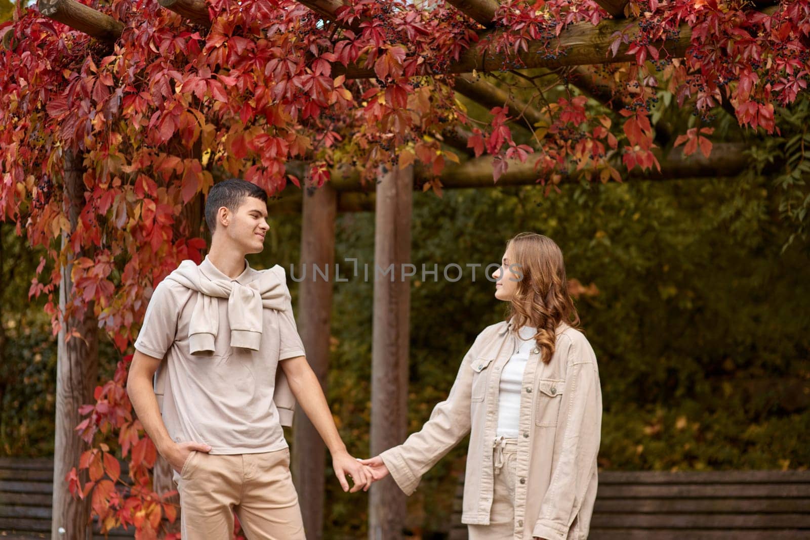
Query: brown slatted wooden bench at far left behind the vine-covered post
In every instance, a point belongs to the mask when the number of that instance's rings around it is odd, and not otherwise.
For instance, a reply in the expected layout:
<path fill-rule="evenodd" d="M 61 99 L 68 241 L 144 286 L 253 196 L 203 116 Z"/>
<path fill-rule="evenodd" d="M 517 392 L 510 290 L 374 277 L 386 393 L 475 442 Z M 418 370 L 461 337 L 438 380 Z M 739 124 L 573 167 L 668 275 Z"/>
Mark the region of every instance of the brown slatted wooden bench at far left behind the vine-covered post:
<path fill-rule="evenodd" d="M 53 459 L 0 458 L 0 540 L 50 538 Z M 94 527 L 93 538 L 100 540 Z M 109 538 L 133 538 L 134 528 Z"/>

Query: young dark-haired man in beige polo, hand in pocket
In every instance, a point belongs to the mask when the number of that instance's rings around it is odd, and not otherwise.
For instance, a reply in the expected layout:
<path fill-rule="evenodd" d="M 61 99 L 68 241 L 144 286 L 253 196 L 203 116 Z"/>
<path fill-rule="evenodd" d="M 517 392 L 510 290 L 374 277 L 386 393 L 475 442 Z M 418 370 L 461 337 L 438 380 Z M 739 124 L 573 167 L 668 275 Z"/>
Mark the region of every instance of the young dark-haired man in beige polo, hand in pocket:
<path fill-rule="evenodd" d="M 234 510 L 249 540 L 305 538 L 282 431 L 293 396 L 328 446 L 343 491 L 346 476 L 352 492 L 371 483 L 307 364 L 283 268 L 258 272 L 245 260 L 264 247 L 266 200 L 245 180 L 211 188 L 211 250 L 156 287 L 135 342 L 127 392 L 175 470 L 184 540 L 231 538 Z"/>

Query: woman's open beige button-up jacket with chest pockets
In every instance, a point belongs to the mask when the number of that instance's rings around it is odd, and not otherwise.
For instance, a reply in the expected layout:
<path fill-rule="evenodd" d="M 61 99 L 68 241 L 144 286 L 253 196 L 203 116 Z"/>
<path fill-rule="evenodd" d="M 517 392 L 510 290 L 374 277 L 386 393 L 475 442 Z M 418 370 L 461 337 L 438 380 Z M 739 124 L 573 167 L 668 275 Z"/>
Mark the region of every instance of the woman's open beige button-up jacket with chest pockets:
<path fill-rule="evenodd" d="M 501 369 L 516 345 L 511 323 L 487 327 L 458 369 L 447 399 L 420 432 L 382 453 L 399 487 L 411 495 L 424 473 L 470 433 L 462 523 L 488 525 L 492 444 Z M 596 498 L 602 391 L 596 356 L 581 332 L 557 331 L 552 360 L 532 349 L 520 401 L 514 538 L 587 538 Z"/>

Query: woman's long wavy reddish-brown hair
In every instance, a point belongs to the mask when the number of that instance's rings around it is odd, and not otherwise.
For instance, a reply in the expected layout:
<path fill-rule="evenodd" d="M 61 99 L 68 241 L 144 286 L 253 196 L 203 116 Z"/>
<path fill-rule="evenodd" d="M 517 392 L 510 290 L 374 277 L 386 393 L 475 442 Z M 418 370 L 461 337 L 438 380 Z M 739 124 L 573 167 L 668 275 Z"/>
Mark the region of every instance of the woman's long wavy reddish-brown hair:
<path fill-rule="evenodd" d="M 536 233 L 520 233 L 508 243 L 509 264 L 519 264 L 522 280 L 509 302 L 506 320 L 514 331 L 535 327 L 535 341 L 548 364 L 556 348 L 556 329 L 560 323 L 579 328 L 579 314 L 568 293 L 565 263 L 560 247 L 551 238 Z"/>

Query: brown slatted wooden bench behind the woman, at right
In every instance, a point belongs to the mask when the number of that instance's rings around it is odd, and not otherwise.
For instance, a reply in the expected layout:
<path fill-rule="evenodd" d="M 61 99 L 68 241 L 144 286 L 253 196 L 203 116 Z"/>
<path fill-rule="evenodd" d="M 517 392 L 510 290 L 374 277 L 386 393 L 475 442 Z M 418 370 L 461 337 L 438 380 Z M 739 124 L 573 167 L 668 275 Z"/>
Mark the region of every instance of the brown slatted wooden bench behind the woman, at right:
<path fill-rule="evenodd" d="M 460 525 L 459 486 L 450 540 Z M 599 473 L 589 540 L 810 538 L 810 470 Z"/>

